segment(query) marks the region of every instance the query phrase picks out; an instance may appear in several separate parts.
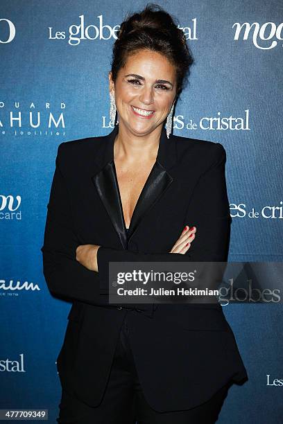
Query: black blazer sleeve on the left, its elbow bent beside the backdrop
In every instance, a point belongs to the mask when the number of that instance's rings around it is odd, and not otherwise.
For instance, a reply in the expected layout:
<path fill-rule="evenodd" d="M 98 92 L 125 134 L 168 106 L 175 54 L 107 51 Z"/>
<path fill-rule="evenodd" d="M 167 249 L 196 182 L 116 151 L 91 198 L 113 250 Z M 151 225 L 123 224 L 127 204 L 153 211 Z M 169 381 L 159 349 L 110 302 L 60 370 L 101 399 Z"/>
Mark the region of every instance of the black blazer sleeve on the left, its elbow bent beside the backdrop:
<path fill-rule="evenodd" d="M 99 294 L 101 281 L 98 272 L 88 270 L 76 260 L 76 247 L 80 242 L 74 230 L 68 188 L 60 169 L 64 144 L 58 147 L 47 204 L 44 244 L 41 248 L 43 274 L 52 294 L 100 304 L 103 297 Z"/>

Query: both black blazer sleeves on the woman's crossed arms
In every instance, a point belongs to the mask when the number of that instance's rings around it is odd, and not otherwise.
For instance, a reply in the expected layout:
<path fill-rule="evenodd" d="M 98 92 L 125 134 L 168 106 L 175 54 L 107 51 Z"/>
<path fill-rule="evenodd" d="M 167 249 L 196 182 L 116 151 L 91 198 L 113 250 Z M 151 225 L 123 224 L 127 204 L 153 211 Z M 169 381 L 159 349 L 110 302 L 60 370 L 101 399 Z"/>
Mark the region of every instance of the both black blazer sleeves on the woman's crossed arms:
<path fill-rule="evenodd" d="M 212 164 L 200 176 L 187 208 L 185 224 L 188 222 L 198 229 L 194 245 L 187 253 L 176 253 L 172 257 L 169 252 L 144 254 L 101 246 L 96 247 L 92 269 L 77 260 L 80 242 L 74 231 L 69 192 L 60 168 L 64 144 L 58 147 L 41 249 L 43 273 L 52 294 L 94 305 L 108 303 L 108 299 L 101 296 L 101 290 L 105 292 L 108 288 L 108 264 L 112 261 L 227 260 L 231 218 L 225 183 L 226 154 L 221 144 L 215 144 Z"/>

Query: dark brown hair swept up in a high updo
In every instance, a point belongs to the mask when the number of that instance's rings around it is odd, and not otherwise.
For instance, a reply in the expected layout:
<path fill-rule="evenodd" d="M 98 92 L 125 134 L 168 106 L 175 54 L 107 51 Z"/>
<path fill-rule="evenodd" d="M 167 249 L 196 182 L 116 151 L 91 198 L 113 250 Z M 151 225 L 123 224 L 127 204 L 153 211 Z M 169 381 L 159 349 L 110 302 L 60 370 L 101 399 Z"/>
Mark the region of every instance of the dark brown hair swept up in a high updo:
<path fill-rule="evenodd" d="M 115 82 L 119 70 L 125 66 L 128 56 L 141 49 L 156 51 L 173 64 L 176 71 L 176 97 L 188 81 L 194 59 L 187 46 L 184 32 L 177 21 L 155 3 L 148 3 L 144 10 L 126 17 L 117 31 L 117 40 L 112 52 L 112 80 Z"/>

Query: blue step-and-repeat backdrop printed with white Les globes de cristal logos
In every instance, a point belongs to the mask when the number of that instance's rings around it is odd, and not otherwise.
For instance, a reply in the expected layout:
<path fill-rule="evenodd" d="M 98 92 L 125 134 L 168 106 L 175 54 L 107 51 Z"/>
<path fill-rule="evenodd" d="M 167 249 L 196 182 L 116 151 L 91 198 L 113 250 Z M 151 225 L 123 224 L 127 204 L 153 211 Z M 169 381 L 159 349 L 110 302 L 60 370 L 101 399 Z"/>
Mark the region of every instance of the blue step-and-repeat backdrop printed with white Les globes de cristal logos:
<path fill-rule="evenodd" d="M 282 2 L 158 4 L 178 19 L 195 60 L 173 134 L 219 142 L 227 152 L 229 261 L 279 263 Z M 112 130 L 112 44 L 126 14 L 144 6 L 1 0 L 0 409 L 49 409 L 55 423 L 61 390 L 55 361 L 71 306 L 51 296 L 42 273 L 55 157 L 62 141 Z M 282 422 L 283 311 L 278 297 L 270 300 L 223 306 L 249 380 L 231 387 L 221 424 Z"/>

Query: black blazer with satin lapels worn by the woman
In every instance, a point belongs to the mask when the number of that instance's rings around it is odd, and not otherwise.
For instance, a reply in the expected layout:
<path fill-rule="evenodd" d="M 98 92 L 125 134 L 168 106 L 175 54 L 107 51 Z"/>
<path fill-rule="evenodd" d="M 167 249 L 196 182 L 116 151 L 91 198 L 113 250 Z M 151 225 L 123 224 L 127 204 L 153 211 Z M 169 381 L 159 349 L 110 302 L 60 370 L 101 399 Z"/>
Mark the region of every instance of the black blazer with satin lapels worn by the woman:
<path fill-rule="evenodd" d="M 148 403 L 160 412 L 205 402 L 228 382 L 247 379 L 232 330 L 217 304 L 108 303 L 110 261 L 225 261 L 230 209 L 220 143 L 162 128 L 157 159 L 130 222 L 129 238 L 113 162 L 118 126 L 107 136 L 61 143 L 47 206 L 43 270 L 52 294 L 71 300 L 57 359 L 62 387 L 95 407 L 101 402 L 123 318 Z M 187 254 L 170 254 L 185 225 L 197 233 Z M 101 245 L 98 272 L 76 260 L 76 247 Z"/>

